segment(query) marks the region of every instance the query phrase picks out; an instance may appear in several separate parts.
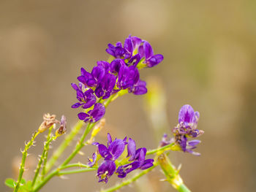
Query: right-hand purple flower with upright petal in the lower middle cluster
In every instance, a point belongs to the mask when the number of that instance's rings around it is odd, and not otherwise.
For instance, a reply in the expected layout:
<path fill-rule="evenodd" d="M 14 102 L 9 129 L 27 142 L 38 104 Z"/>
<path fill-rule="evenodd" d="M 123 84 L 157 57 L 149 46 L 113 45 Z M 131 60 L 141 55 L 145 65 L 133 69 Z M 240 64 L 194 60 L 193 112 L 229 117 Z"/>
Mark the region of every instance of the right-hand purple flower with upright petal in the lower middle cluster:
<path fill-rule="evenodd" d="M 148 169 L 149 167 L 153 166 L 153 159 L 145 159 L 146 158 L 146 148 L 142 147 L 136 150 L 136 143 L 133 139 L 129 138 L 128 145 L 127 145 L 127 157 L 129 161 L 132 161 L 130 164 L 126 164 L 124 166 L 119 166 L 116 169 L 116 173 L 118 177 L 124 178 L 127 176 L 129 172 L 132 172 L 135 169 Z"/>

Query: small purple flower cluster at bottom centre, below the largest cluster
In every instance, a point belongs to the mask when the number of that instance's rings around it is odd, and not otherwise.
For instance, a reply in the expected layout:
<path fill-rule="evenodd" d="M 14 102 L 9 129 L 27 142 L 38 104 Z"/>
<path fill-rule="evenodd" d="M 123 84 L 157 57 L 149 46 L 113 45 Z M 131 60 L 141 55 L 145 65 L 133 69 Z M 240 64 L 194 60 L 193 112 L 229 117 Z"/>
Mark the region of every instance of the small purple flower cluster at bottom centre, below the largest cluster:
<path fill-rule="evenodd" d="M 115 172 L 118 177 L 124 178 L 129 172 L 135 169 L 148 169 L 153 166 L 153 159 L 146 159 L 146 148 L 138 148 L 136 150 L 135 141 L 129 138 L 127 142 L 127 137 L 124 139 L 115 139 L 112 141 L 110 134 L 108 134 L 108 145 L 102 145 L 99 143 L 94 143 L 98 147 L 99 155 L 104 158 L 102 164 L 100 164 L 97 177 L 99 177 L 99 182 L 108 183 L 109 177 L 111 177 Z M 129 158 L 128 163 L 118 166 L 116 169 L 115 161 L 124 153 L 125 146 L 127 145 L 127 158 Z M 89 166 L 94 166 L 96 163 L 97 155 L 95 153 L 92 155 L 92 159 L 89 161 Z"/>

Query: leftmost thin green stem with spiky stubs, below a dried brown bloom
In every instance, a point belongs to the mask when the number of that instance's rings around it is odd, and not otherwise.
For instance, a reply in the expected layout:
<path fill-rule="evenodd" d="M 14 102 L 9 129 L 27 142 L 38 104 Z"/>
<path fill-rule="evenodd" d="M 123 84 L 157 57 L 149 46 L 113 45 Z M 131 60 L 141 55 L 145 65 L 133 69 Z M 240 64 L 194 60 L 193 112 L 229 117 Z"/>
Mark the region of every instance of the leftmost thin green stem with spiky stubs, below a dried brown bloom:
<path fill-rule="evenodd" d="M 28 155 L 28 150 L 29 147 L 31 147 L 31 145 L 33 145 L 34 143 L 34 139 L 36 139 L 37 135 L 39 134 L 39 132 L 35 132 L 31 138 L 31 140 L 25 145 L 25 148 L 23 150 L 23 155 L 22 155 L 22 160 L 21 160 L 21 164 L 20 164 L 20 173 L 18 176 L 18 180 L 17 180 L 17 184 L 15 185 L 14 191 L 17 192 L 18 188 L 20 187 L 20 180 L 22 179 L 23 176 L 23 172 L 24 172 L 24 168 L 25 168 L 25 161 L 26 161 L 26 156 Z"/>

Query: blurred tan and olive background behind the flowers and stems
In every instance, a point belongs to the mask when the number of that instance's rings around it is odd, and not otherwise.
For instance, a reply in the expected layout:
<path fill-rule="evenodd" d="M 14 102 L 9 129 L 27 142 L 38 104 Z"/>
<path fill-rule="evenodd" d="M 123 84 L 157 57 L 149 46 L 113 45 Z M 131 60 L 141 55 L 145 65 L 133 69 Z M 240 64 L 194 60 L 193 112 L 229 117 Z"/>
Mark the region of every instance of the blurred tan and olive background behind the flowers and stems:
<path fill-rule="evenodd" d="M 129 34 L 146 39 L 165 56 L 140 77 L 149 87 L 162 88 L 168 126 L 155 137 L 145 97 L 129 94 L 108 107 L 99 141 L 105 142 L 111 131 L 113 137 L 132 137 L 138 147 L 153 149 L 178 123 L 181 106 L 191 104 L 200 112 L 199 128 L 205 134 L 197 148 L 200 157 L 170 154 L 173 164 L 182 164 L 184 183 L 197 192 L 255 191 L 255 7 L 253 0 L 1 0 L 1 191 L 8 191 L 5 178 L 17 177 L 20 148 L 43 113 L 66 115 L 68 128 L 78 120 L 78 111 L 70 108 L 76 101 L 70 83 L 77 82 L 80 67 L 91 70 L 96 61 L 107 60 L 108 43 L 124 42 Z M 39 136 L 29 150 L 26 177 L 31 177 L 44 139 Z M 84 149 L 86 155 L 74 161 L 86 163 L 93 150 Z M 156 170 L 122 191 L 174 191 L 159 182 L 162 178 Z M 117 180 L 114 176 L 107 185 L 98 184 L 95 173 L 65 179 L 55 177 L 42 191 L 99 191 Z"/>

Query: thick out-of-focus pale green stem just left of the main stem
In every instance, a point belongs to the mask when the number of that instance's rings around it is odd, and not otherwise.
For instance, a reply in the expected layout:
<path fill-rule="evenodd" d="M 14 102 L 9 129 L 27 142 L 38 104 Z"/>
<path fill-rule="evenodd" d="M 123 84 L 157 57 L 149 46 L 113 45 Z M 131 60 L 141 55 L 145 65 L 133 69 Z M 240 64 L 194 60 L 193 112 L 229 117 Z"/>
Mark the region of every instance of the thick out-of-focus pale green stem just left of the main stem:
<path fill-rule="evenodd" d="M 75 124 L 74 128 L 72 128 L 72 131 L 70 134 L 65 137 L 64 141 L 61 143 L 61 145 L 58 147 L 58 149 L 53 153 L 53 156 L 50 158 L 48 163 L 45 167 L 45 174 L 47 174 L 50 169 L 53 167 L 53 165 L 56 163 L 56 161 L 59 159 L 61 154 L 64 152 L 64 150 L 69 146 L 70 142 L 72 142 L 72 139 L 79 133 L 80 129 L 83 127 L 84 123 L 82 120 L 79 120 L 78 123 Z"/>

